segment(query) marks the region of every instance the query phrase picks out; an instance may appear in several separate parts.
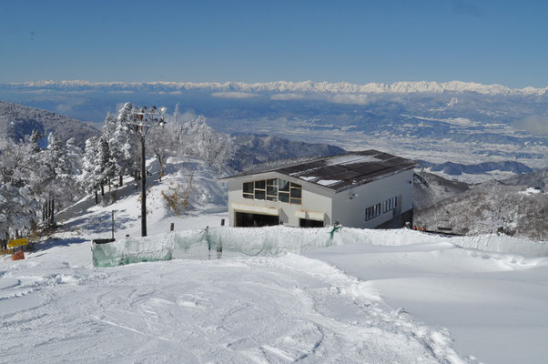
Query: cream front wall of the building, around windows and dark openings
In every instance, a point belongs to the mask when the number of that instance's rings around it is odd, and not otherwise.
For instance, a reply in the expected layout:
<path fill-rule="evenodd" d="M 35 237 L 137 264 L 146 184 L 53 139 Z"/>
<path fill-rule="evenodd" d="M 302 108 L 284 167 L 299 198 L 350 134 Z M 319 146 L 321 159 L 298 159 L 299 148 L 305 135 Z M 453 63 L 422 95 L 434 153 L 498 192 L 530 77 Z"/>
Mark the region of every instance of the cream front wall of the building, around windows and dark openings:
<path fill-rule="evenodd" d="M 258 179 L 267 178 L 282 178 L 291 182 L 296 182 L 302 186 L 302 204 L 295 205 L 279 201 L 269 201 L 262 199 L 244 198 L 242 188 L 244 182 L 255 181 Z M 331 219 L 331 197 L 334 195 L 323 188 L 310 186 L 305 184 L 299 178 L 291 178 L 279 176 L 277 174 L 265 174 L 262 176 L 249 176 L 228 181 L 228 224 L 234 227 L 234 208 L 233 204 L 253 205 L 258 207 L 275 207 L 279 208 L 279 220 L 287 226 L 299 227 L 299 217 L 296 216 L 297 211 L 323 212 L 325 213 L 324 226 L 332 225 Z"/>

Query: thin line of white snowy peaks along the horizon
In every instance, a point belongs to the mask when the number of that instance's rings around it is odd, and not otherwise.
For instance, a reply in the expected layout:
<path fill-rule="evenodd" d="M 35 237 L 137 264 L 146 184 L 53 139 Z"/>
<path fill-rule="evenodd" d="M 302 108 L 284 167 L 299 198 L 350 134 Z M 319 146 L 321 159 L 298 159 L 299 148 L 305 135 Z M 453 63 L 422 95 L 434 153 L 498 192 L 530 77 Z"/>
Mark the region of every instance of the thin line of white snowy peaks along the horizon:
<path fill-rule="evenodd" d="M 410 93 L 476 93 L 481 95 L 502 96 L 545 96 L 548 87 L 534 88 L 524 87 L 512 89 L 501 85 L 482 85 L 475 82 L 395 82 L 392 84 L 369 83 L 357 85 L 349 82 L 314 82 L 314 81 L 276 81 L 264 83 L 244 82 L 89 82 L 89 81 L 37 81 L 25 83 L 0 84 L 0 88 L 41 88 L 41 89 L 102 89 L 111 91 L 119 90 L 148 90 L 148 91 L 180 91 L 180 90 L 208 90 L 221 92 L 246 92 L 246 93 L 328 93 L 328 94 L 410 94 Z M 246 97 L 234 95 L 234 97 Z"/>

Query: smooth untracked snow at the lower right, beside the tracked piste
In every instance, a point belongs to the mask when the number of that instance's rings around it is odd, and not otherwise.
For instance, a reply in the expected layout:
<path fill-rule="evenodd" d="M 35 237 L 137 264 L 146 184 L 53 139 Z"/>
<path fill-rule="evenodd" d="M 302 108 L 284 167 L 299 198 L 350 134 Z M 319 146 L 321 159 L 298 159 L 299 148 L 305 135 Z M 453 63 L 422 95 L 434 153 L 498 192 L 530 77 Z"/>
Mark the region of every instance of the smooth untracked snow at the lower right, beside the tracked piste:
<path fill-rule="evenodd" d="M 414 319 L 449 329 L 454 348 L 471 361 L 546 362 L 548 258 L 447 242 L 355 244 L 304 254 L 364 279 L 389 305 Z"/>

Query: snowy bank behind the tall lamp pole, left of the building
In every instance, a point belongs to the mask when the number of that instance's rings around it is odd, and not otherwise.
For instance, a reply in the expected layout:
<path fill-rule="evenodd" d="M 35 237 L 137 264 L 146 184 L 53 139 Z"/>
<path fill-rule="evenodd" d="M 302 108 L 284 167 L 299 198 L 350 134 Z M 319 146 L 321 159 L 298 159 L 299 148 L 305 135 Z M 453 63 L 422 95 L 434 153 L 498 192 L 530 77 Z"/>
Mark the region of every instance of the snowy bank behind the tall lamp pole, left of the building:
<path fill-rule="evenodd" d="M 218 182 L 214 169 L 203 162 L 170 158 L 161 182 L 156 161 L 148 160 L 147 170 L 151 172 L 147 178 L 148 235 L 169 231 L 171 223 L 176 229 L 219 226 L 221 218 L 226 217 L 226 186 Z M 166 197 L 171 198 L 171 207 Z M 111 202 L 113 199 L 115 203 Z M 140 185 L 137 187 L 128 179 L 122 188 L 112 191 L 106 188 L 105 197 L 99 195 L 99 200 L 99 205 L 95 205 L 94 198 L 87 196 L 58 213 L 56 221 L 62 224 L 61 231 L 75 238 L 86 232 L 88 240 L 110 238 L 111 212 L 114 211 L 116 238 L 141 236 Z M 177 211 L 173 207 L 177 207 Z"/>

